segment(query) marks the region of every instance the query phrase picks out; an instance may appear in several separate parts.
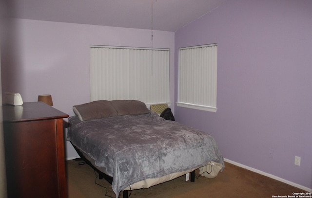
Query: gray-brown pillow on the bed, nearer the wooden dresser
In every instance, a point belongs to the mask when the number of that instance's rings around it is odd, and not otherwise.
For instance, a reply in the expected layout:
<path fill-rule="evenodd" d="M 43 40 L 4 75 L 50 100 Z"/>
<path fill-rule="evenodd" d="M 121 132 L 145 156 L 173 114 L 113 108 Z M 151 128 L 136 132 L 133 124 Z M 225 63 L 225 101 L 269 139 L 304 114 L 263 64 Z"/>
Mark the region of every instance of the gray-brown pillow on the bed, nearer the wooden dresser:
<path fill-rule="evenodd" d="M 117 116 L 117 111 L 107 100 L 75 105 L 73 110 L 81 121 Z"/>

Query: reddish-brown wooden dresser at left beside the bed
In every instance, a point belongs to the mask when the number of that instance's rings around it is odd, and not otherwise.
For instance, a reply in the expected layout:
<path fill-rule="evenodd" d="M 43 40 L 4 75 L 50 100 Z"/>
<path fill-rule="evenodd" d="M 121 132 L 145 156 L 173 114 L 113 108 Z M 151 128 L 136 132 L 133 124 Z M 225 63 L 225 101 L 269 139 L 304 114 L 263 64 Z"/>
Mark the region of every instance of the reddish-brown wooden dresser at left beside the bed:
<path fill-rule="evenodd" d="M 66 198 L 63 118 L 43 102 L 3 105 L 8 198 Z"/>

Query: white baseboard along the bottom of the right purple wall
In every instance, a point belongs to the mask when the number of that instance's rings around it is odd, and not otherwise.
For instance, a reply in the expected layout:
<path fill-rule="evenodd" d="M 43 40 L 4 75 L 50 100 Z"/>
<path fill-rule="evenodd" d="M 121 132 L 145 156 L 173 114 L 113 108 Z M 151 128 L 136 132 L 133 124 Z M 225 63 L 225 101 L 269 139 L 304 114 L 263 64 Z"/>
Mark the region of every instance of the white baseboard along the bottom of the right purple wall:
<path fill-rule="evenodd" d="M 274 175 L 272 175 L 272 174 L 263 172 L 263 171 L 261 171 L 261 170 L 257 170 L 257 169 L 255 169 L 255 168 L 252 168 L 252 167 L 249 167 L 249 166 L 246 166 L 246 165 L 244 165 L 244 164 L 237 163 L 237 162 L 234 162 L 234 161 L 229 160 L 229 159 L 226 159 L 226 158 L 224 158 L 224 162 L 232 163 L 232 164 L 234 164 L 234 165 L 236 165 L 236 166 L 239 166 L 239 167 L 241 167 L 241 168 L 245 168 L 245 169 L 247 169 L 247 170 L 253 171 L 253 172 L 258 173 L 258 174 L 260 174 L 260 175 L 264 175 L 264 176 L 267 176 L 267 177 L 272 178 L 272 179 L 274 179 L 274 180 L 278 180 L 278 181 L 281 181 L 281 182 L 283 182 L 283 183 L 286 183 L 286 184 L 289 184 L 289 185 L 291 185 L 291 186 L 294 186 L 294 187 L 296 187 L 296 188 L 300 188 L 300 189 L 302 189 L 302 190 L 305 190 L 305 191 L 308 191 L 308 192 L 312 192 L 312 189 L 311 189 L 311 188 L 305 187 L 305 186 L 303 186 L 303 185 L 299 185 L 299 184 L 294 183 L 294 182 L 289 181 L 289 180 L 284 180 L 284 179 L 282 179 L 282 178 L 279 178 L 279 177 L 274 176 Z"/>

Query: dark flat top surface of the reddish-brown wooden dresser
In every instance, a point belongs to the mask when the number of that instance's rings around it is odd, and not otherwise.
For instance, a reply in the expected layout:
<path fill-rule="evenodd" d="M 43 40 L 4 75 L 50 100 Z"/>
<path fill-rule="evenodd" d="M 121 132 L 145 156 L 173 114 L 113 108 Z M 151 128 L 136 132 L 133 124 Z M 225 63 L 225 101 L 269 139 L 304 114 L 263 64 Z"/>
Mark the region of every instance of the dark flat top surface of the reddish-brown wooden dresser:
<path fill-rule="evenodd" d="M 43 102 L 28 102 L 21 106 L 3 105 L 3 122 L 23 122 L 67 118 L 69 115 Z"/>

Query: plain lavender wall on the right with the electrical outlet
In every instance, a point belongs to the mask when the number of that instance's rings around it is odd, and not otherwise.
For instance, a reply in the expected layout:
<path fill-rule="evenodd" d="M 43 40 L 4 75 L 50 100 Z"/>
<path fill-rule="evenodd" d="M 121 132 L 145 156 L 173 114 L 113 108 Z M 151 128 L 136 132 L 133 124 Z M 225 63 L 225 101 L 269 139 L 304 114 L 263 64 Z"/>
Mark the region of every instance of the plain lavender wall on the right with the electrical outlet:
<path fill-rule="evenodd" d="M 176 107 L 176 120 L 212 134 L 226 159 L 312 189 L 312 1 L 229 0 L 176 32 L 176 60 L 210 43 L 218 110 Z"/>

